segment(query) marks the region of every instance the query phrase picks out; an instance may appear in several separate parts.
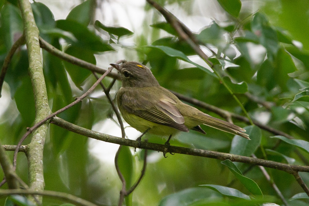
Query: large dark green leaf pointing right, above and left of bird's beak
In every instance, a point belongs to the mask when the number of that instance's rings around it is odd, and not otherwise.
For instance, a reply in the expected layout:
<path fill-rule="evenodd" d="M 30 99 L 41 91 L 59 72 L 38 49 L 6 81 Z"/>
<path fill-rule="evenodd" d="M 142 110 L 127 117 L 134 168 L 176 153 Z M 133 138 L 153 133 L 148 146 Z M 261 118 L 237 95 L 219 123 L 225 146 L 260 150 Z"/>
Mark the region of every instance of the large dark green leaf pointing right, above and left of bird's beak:
<path fill-rule="evenodd" d="M 114 51 L 108 44 L 108 41 L 103 40 L 94 32 L 90 31 L 85 25 L 71 19 L 60 19 L 56 21 L 56 27 L 67 32 L 71 32 L 78 42 L 69 42 L 72 45 L 82 49 L 88 49 L 93 52 Z"/>

